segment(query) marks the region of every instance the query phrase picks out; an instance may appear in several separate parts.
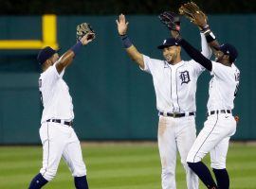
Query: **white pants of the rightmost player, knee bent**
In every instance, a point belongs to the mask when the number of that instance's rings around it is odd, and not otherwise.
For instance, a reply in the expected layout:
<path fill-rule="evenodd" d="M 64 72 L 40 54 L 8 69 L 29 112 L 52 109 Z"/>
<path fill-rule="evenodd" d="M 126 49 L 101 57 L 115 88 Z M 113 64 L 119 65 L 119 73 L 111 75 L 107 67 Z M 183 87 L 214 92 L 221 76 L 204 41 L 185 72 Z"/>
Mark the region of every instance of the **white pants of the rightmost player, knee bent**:
<path fill-rule="evenodd" d="M 187 158 L 189 163 L 200 162 L 210 152 L 210 166 L 226 168 L 229 139 L 236 131 L 236 121 L 230 113 L 208 116 Z"/>

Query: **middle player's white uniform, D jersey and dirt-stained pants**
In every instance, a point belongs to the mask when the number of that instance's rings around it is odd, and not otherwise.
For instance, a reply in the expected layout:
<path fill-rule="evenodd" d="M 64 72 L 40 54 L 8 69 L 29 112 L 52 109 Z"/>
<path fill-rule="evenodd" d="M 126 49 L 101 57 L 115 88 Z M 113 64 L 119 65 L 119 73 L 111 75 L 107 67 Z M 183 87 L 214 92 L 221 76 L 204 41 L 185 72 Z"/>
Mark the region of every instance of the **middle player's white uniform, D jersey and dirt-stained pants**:
<path fill-rule="evenodd" d="M 211 51 L 201 34 L 202 54 L 210 57 Z M 169 64 L 143 55 L 143 71 L 153 77 L 156 108 L 159 112 L 195 112 L 196 81 L 204 71 L 194 60 Z M 162 188 L 176 188 L 176 152 L 186 170 L 188 189 L 198 189 L 198 178 L 188 167 L 186 158 L 196 138 L 194 116 L 180 118 L 159 115 L 157 142 L 162 165 Z"/>

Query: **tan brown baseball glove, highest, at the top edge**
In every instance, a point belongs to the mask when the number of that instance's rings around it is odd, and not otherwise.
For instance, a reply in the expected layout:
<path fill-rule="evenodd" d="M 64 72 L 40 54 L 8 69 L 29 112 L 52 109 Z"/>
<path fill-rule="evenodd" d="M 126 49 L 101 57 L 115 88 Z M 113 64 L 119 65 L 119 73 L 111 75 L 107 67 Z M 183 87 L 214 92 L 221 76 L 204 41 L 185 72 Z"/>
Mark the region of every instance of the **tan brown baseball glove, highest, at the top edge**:
<path fill-rule="evenodd" d="M 196 26 L 204 27 L 207 25 L 207 15 L 195 3 L 185 3 L 178 10 L 181 15 L 186 16 Z"/>

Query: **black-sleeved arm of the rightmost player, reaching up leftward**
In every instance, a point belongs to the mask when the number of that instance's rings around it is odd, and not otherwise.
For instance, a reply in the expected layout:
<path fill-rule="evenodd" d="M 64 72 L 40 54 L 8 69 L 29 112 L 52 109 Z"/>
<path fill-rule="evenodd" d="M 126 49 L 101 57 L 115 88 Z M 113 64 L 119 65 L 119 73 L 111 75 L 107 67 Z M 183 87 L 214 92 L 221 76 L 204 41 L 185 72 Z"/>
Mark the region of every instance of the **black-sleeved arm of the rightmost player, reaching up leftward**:
<path fill-rule="evenodd" d="M 190 43 L 186 42 L 184 39 L 180 39 L 179 44 L 184 48 L 184 50 L 188 53 L 188 55 L 193 60 L 200 63 L 206 69 L 211 71 L 212 64 L 209 59 L 205 58 L 205 56 L 203 56 L 198 50 L 196 50 L 194 47 L 192 47 L 192 45 Z"/>

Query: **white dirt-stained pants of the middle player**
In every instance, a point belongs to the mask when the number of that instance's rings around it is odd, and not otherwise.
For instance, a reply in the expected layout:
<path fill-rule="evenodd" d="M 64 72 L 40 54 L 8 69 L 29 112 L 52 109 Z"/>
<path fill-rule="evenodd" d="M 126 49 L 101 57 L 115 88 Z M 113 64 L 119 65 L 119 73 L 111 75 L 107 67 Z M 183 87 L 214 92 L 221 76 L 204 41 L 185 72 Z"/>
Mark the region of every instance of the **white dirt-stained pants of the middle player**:
<path fill-rule="evenodd" d="M 175 189 L 176 152 L 186 171 L 188 189 L 198 189 L 198 177 L 186 163 L 187 155 L 196 138 L 194 116 L 173 118 L 159 116 L 158 148 L 162 164 L 162 188 Z"/>

